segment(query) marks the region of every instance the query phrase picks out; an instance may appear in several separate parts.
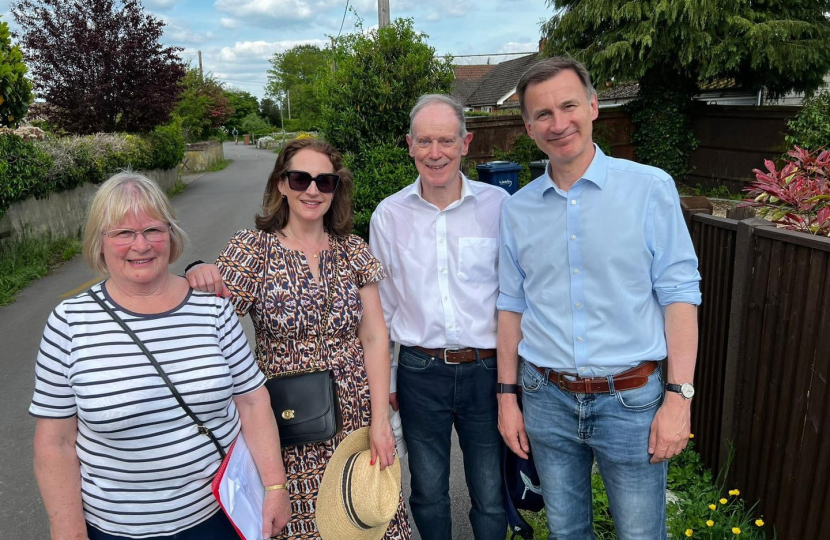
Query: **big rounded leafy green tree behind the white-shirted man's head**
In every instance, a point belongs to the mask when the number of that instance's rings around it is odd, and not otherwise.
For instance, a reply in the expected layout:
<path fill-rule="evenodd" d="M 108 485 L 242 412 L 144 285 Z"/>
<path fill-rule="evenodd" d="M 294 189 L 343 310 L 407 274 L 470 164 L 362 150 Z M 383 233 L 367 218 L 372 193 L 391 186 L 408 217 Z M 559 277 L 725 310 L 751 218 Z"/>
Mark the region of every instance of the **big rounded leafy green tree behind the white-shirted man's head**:
<path fill-rule="evenodd" d="M 335 42 L 336 69 L 320 82 L 320 129 L 341 152 L 359 153 L 361 144 L 401 144 L 418 97 L 449 93 L 453 81 L 451 59 L 435 58 L 412 19 L 361 30 Z"/>

